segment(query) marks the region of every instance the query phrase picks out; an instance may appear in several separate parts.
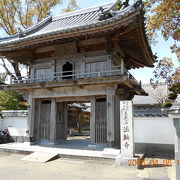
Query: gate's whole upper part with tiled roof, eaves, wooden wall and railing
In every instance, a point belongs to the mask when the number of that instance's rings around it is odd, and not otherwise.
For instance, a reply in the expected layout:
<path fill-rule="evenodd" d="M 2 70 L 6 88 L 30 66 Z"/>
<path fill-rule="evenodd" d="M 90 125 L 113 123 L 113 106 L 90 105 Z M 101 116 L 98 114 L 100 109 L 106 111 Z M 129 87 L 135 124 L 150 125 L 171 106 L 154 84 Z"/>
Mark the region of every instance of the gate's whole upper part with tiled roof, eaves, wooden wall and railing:
<path fill-rule="evenodd" d="M 40 82 L 95 82 L 101 77 L 107 82 L 115 77 L 127 80 L 133 79 L 129 69 L 153 67 L 141 1 L 133 5 L 125 1 L 118 10 L 116 5 L 108 3 L 49 16 L 29 29 L 0 39 L 1 57 L 29 67 L 28 76 L 12 77 L 12 84 L 35 87 Z"/>

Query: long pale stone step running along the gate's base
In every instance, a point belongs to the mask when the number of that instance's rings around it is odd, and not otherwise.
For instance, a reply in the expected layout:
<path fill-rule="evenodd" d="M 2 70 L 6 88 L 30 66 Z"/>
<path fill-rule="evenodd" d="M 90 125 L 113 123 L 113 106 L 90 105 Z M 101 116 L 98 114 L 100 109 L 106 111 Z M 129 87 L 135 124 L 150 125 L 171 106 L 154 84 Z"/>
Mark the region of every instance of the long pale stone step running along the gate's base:
<path fill-rule="evenodd" d="M 117 150 L 105 149 L 105 151 L 95 150 L 79 150 L 79 149 L 64 149 L 52 148 L 42 146 L 30 146 L 23 143 L 17 144 L 1 144 L 0 152 L 17 153 L 17 154 L 31 154 L 33 152 L 53 152 L 57 153 L 60 158 L 73 158 L 73 159 L 87 159 L 87 160 L 112 160 L 114 161 L 117 156 Z M 116 152 L 116 153 L 114 153 Z"/>

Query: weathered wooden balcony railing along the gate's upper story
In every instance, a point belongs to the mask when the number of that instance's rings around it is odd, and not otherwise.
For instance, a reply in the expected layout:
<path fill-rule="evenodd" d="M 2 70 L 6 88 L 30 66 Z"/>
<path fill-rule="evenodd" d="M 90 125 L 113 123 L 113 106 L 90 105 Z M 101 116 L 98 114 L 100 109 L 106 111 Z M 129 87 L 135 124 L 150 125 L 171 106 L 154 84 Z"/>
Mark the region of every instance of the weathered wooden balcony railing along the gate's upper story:
<path fill-rule="evenodd" d="M 89 72 L 87 69 L 73 70 L 73 71 L 62 71 L 38 75 L 29 75 L 23 77 L 12 77 L 10 84 L 30 84 L 38 82 L 55 82 L 64 80 L 78 80 L 78 79 L 89 79 L 98 77 L 108 76 L 121 76 L 127 75 L 130 79 L 134 77 L 129 72 L 124 72 L 120 66 L 106 67 L 105 70 L 98 72 Z"/>

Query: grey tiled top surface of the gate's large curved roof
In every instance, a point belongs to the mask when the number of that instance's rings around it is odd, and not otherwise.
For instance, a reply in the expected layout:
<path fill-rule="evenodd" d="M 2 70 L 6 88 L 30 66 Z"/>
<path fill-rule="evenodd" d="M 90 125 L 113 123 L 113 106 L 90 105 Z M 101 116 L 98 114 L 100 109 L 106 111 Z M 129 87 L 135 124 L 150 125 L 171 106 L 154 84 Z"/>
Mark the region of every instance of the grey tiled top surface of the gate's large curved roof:
<path fill-rule="evenodd" d="M 20 32 L 11 37 L 0 39 L 0 46 L 16 44 L 31 39 L 46 37 L 56 34 L 64 34 L 83 29 L 100 27 L 116 22 L 132 14 L 138 8 L 137 3 L 131 6 L 124 6 L 119 11 L 111 12 L 112 17 L 100 20 L 103 12 L 112 8 L 114 3 L 99 5 L 93 8 L 82 9 L 55 17 L 48 17 L 39 24 Z"/>

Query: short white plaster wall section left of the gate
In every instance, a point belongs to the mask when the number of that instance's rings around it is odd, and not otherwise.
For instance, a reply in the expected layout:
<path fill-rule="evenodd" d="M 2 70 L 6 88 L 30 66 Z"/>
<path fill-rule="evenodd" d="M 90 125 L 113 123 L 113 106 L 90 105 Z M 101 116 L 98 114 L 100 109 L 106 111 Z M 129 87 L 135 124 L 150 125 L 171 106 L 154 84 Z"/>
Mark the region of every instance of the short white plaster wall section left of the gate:
<path fill-rule="evenodd" d="M 4 117 L 0 119 L 0 130 L 7 129 L 11 136 L 27 136 L 27 117 Z"/>

